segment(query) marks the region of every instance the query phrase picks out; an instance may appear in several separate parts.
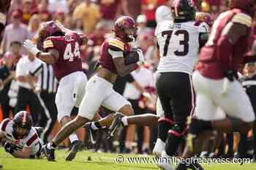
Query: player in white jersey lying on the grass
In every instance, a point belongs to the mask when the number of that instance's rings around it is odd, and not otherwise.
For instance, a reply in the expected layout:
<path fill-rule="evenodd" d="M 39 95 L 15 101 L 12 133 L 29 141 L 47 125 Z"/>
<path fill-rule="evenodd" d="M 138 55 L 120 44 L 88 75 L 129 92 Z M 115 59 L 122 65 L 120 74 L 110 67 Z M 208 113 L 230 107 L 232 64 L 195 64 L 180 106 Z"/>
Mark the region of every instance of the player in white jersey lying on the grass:
<path fill-rule="evenodd" d="M 42 128 L 32 127 L 29 112 L 20 111 L 15 117 L 4 119 L 0 125 L 0 141 L 4 150 L 15 158 L 41 158 Z"/>

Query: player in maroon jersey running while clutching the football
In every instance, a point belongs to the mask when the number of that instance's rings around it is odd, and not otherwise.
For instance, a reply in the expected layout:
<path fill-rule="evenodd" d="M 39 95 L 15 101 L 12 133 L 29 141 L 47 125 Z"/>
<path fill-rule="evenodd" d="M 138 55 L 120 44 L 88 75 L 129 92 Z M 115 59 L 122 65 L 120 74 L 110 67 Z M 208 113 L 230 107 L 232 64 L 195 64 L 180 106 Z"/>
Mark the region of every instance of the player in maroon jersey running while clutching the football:
<path fill-rule="evenodd" d="M 43 147 L 48 161 L 54 161 L 54 149 L 69 134 L 90 122 L 95 112 L 102 105 L 114 112 L 124 115 L 133 115 L 129 101 L 113 90 L 113 83 L 118 75 L 124 76 L 134 71 L 143 63 L 141 50 L 132 50 L 129 42 L 134 42 L 137 37 L 135 20 L 123 16 L 114 23 L 115 36 L 106 39 L 100 47 L 100 57 L 97 64 L 97 74 L 90 78 L 86 84 L 86 94 L 80 104 L 78 116 L 64 125 L 51 142 Z M 92 127 L 102 128 L 110 125 L 113 114 L 103 120 L 92 124 Z"/>

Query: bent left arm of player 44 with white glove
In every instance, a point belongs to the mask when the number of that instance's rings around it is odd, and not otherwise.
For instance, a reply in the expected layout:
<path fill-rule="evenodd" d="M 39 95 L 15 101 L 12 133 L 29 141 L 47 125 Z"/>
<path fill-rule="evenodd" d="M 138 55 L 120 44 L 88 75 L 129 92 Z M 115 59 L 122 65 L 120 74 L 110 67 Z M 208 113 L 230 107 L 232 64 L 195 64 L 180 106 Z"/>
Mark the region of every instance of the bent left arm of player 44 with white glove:
<path fill-rule="evenodd" d="M 28 50 L 29 53 L 37 56 L 37 58 L 44 61 L 45 63 L 54 64 L 59 59 L 58 50 L 51 49 L 48 53 L 43 53 L 38 50 L 36 45 L 34 45 L 33 42 L 31 42 L 31 40 L 29 39 L 27 39 L 23 45 L 24 47 L 26 47 L 26 50 Z"/>

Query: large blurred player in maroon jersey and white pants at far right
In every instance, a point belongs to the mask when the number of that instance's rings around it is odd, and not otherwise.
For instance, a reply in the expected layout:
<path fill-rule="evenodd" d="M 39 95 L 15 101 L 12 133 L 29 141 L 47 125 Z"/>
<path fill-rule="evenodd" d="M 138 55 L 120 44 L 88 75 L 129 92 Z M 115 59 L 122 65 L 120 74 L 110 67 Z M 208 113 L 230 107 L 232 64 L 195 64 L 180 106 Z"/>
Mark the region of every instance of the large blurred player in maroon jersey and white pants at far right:
<path fill-rule="evenodd" d="M 195 117 L 189 121 L 184 158 L 197 152 L 204 131 L 246 134 L 253 126 L 255 114 L 252 104 L 237 80 L 237 73 L 239 65 L 246 62 L 244 53 L 251 33 L 255 4 L 255 0 L 231 0 L 230 10 L 222 12 L 215 20 L 208 42 L 200 51 L 193 73 L 197 108 Z M 238 101 L 239 104 L 236 104 Z M 219 109 L 229 117 L 218 120 Z M 181 169 L 187 169 L 187 165 L 181 163 L 176 167 L 176 170 Z"/>

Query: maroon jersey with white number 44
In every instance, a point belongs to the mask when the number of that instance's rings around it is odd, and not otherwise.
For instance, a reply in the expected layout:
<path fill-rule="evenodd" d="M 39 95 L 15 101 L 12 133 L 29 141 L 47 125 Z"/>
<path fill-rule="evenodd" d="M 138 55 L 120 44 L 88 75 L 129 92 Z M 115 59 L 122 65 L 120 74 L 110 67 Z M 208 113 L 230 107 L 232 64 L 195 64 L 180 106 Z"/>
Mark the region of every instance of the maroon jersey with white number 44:
<path fill-rule="evenodd" d="M 71 74 L 82 71 L 82 61 L 80 58 L 80 36 L 76 33 L 65 36 L 50 36 L 43 43 L 44 50 L 50 49 L 59 51 L 59 59 L 53 64 L 54 74 L 57 80 Z"/>

